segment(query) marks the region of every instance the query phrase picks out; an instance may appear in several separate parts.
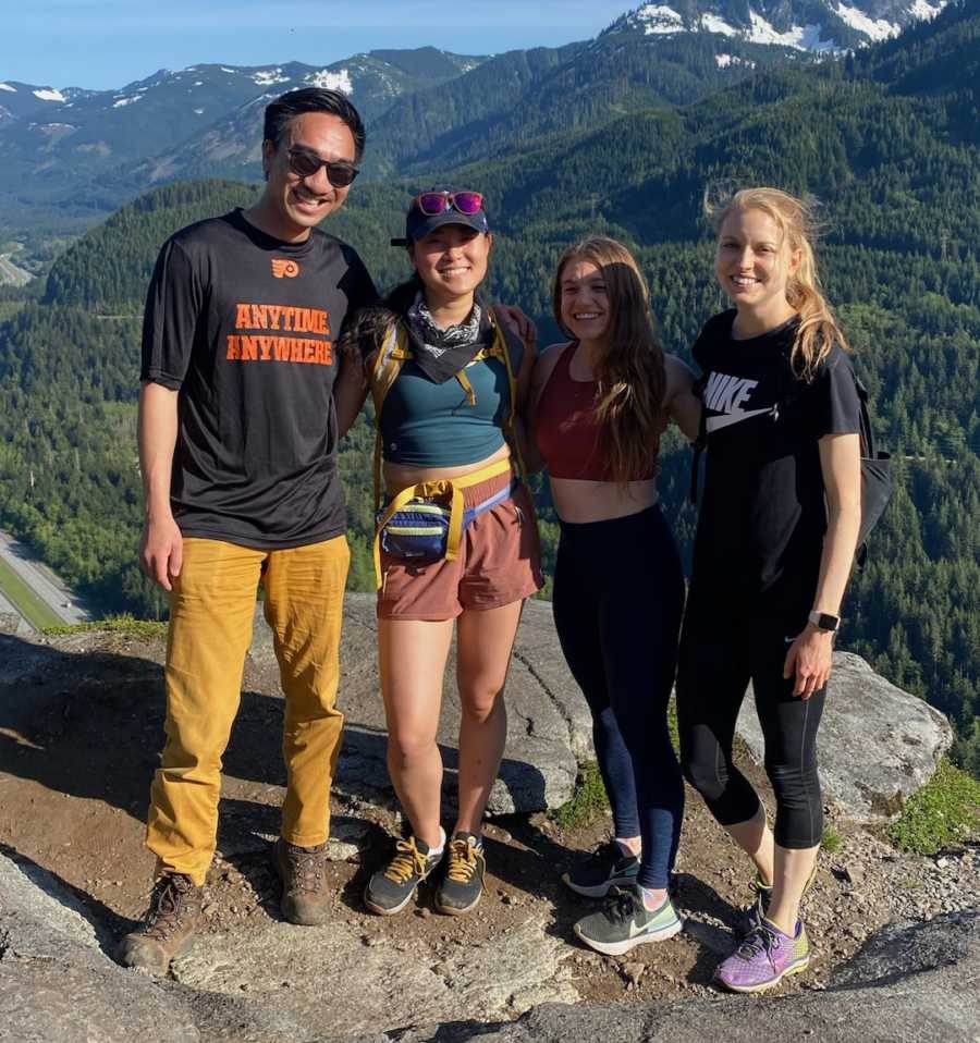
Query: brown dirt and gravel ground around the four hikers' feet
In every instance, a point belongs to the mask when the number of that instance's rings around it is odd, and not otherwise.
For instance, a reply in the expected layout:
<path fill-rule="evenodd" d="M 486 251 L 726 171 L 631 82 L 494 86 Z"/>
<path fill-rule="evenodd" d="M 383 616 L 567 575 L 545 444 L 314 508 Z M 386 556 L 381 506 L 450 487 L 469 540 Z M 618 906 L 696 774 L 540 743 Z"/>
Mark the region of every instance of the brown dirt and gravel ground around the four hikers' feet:
<path fill-rule="evenodd" d="M 49 671 L 27 678 L 29 720 L 0 728 L 0 850 L 29 859 L 68 884 L 107 934 L 128 930 L 145 908 L 154 859 L 143 847 L 150 777 L 162 741 L 162 696 L 156 645 L 122 641 L 108 654 L 86 657 L 52 684 Z M 105 653 L 105 654 L 103 654 Z M 78 661 L 72 657 L 72 665 Z M 247 677 L 246 677 L 247 683 Z M 248 931 L 261 918 L 279 918 L 278 891 L 267 867 L 267 839 L 278 830 L 284 774 L 279 759 L 279 700 L 243 699 L 225 758 L 219 855 L 205 905 L 205 931 Z M 747 764 L 761 793 L 761 771 Z M 771 803 L 771 800 L 770 800 Z M 745 859 L 714 824 L 693 792 L 677 864 L 676 900 L 687 929 L 663 945 L 645 945 L 622 958 L 584 948 L 574 922 L 597 908 L 568 892 L 562 871 L 609 835 L 610 821 L 563 832 L 553 817 L 513 815 L 488 824 L 487 891 L 465 918 L 434 912 L 424 887 L 405 913 L 381 919 L 365 912 L 360 895 L 385 858 L 396 813 L 364 800 L 336 798 L 335 821 L 367 827 L 356 860 L 331 863 L 333 916 L 362 932 L 365 945 L 425 944 L 437 955 L 493 936 L 547 912 L 550 933 L 574 949 L 575 984 L 584 999 L 673 998 L 712 992 L 720 955 L 731 947 L 726 925 L 749 897 Z M 783 992 L 824 987 L 834 967 L 869 933 L 896 918 L 929 919 L 956 907 L 980 906 L 980 847 L 968 844 L 934 859 L 902 856 L 879 837 L 833 817 L 840 837 L 821 852 L 805 915 L 814 948 L 810 972 Z M 363 830 L 362 830 L 363 832 Z"/>

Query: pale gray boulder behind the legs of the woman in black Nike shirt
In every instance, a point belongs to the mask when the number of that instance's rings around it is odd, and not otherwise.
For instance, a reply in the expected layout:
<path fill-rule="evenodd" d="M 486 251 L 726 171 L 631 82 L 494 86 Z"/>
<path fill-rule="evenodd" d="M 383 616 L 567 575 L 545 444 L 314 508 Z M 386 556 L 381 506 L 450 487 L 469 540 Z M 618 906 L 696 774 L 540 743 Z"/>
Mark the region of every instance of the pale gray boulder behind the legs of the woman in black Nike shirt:
<path fill-rule="evenodd" d="M 764 743 L 751 688 L 738 734 L 761 763 Z M 953 729 L 939 710 L 875 674 L 859 655 L 834 653 L 820 724 L 820 783 L 845 818 L 894 817 L 933 776 L 952 741 Z"/>

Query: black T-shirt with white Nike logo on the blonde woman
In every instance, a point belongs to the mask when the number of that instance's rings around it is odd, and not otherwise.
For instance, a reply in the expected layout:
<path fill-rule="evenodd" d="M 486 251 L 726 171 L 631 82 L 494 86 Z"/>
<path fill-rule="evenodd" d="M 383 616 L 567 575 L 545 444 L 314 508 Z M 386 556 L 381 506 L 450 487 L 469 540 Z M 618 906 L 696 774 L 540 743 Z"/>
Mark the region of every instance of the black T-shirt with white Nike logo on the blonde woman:
<path fill-rule="evenodd" d="M 736 341 L 734 318 L 711 319 L 693 349 L 708 435 L 694 584 L 701 597 L 809 609 L 826 529 L 817 442 L 860 430 L 854 370 L 835 344 L 810 382 L 797 379 L 798 319 Z"/>

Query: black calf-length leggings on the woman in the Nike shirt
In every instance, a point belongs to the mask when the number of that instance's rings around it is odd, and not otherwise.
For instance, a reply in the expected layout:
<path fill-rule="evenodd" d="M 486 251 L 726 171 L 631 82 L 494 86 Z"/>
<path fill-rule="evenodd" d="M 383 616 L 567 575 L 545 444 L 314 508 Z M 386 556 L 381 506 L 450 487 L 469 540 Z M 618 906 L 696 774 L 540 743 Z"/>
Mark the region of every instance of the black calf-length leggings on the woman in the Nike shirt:
<path fill-rule="evenodd" d="M 739 611 L 691 588 L 677 672 L 684 774 L 726 826 L 747 822 L 760 807 L 732 761 L 735 722 L 751 679 L 775 792 L 775 842 L 784 848 L 816 847 L 823 836 L 817 728 L 826 688 L 804 700 L 792 694 L 795 676 L 783 677 L 789 643 L 806 622 L 807 609 Z"/>

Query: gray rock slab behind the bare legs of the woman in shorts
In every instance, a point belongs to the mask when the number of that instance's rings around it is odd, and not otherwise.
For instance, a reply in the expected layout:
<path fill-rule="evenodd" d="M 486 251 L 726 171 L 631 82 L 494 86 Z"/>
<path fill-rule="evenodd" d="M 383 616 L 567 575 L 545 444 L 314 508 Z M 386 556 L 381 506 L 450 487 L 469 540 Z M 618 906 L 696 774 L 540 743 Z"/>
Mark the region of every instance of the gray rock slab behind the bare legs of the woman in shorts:
<path fill-rule="evenodd" d="M 272 634 L 256 612 L 246 686 L 279 691 Z M 450 651 L 443 687 L 439 743 L 446 765 L 446 794 L 453 796 L 460 700 L 455 649 Z M 375 597 L 347 594 L 341 653 L 341 709 L 346 717 L 344 746 L 334 783 L 338 794 L 393 801 L 388 775 L 384 709 L 378 679 Z M 572 796 L 578 765 L 591 741 L 591 717 L 572 679 L 554 635 L 551 605 L 529 601 L 507 676 L 507 746 L 488 812 L 541 811 Z"/>

